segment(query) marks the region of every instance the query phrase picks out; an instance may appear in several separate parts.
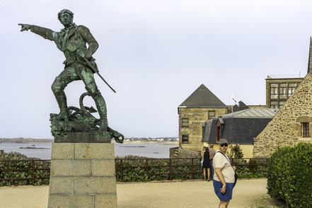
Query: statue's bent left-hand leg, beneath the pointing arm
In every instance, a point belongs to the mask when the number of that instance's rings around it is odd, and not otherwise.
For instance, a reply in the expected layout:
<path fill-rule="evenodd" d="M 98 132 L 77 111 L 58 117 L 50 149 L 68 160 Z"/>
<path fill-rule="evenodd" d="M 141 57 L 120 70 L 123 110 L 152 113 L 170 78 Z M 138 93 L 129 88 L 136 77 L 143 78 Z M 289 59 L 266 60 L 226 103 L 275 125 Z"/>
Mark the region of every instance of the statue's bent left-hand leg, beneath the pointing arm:
<path fill-rule="evenodd" d="M 79 76 L 74 73 L 74 70 L 69 68 L 64 69 L 59 76 L 54 79 L 52 83 L 52 91 L 54 93 L 55 99 L 57 100 L 57 104 L 59 105 L 59 115 L 57 115 L 57 120 L 69 120 L 69 110 L 67 107 L 67 98 L 64 93 L 64 88 L 74 81 L 78 79 Z"/>

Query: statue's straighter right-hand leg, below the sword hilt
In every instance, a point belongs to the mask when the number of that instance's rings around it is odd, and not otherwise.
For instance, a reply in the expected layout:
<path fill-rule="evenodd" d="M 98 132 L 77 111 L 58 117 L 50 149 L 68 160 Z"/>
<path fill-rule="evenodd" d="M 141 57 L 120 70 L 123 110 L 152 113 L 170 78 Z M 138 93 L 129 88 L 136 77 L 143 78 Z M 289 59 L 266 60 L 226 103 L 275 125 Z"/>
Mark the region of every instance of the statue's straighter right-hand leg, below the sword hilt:
<path fill-rule="evenodd" d="M 94 80 L 91 69 L 88 69 L 81 64 L 77 65 L 79 65 L 79 76 L 83 83 L 86 85 L 86 91 L 88 91 L 89 95 L 96 103 L 96 108 L 98 109 L 98 114 L 100 115 L 100 130 L 106 132 L 108 129 L 108 117 L 105 100 L 98 90 L 98 86 L 96 86 L 96 81 Z"/>

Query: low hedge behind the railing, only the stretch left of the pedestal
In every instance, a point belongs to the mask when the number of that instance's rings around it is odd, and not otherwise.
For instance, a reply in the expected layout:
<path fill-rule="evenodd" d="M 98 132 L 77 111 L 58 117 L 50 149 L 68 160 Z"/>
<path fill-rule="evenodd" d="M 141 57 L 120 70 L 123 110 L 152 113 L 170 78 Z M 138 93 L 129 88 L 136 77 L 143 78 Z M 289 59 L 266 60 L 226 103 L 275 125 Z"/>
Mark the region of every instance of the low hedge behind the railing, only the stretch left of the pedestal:
<path fill-rule="evenodd" d="M 30 169 L 33 167 L 32 161 L 22 160 L 40 160 L 40 158 L 30 158 L 18 152 L 10 152 L 0 154 L 0 170 L 8 169 Z M 10 162 L 6 162 L 10 161 Z M 35 161 L 35 168 L 50 168 L 50 161 Z M 0 171 L 0 178 L 32 178 L 32 171 Z M 50 171 L 37 170 L 34 173 L 34 178 L 49 178 Z M 0 180 L 1 186 L 10 185 L 32 185 L 33 180 Z M 35 179 L 35 185 L 48 185 L 49 179 Z"/>

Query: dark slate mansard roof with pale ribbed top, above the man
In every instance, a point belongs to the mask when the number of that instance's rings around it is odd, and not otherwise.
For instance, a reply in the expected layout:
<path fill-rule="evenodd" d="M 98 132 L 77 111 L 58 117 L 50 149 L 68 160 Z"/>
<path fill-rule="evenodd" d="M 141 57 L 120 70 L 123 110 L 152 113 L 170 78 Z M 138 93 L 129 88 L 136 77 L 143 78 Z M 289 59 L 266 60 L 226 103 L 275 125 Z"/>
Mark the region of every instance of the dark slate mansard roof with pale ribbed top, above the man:
<path fill-rule="evenodd" d="M 250 108 L 215 117 L 203 123 L 202 141 L 216 144 L 216 121 L 223 120 L 221 138 L 231 144 L 253 144 L 253 138 L 272 120 L 277 110 L 271 108 Z"/>

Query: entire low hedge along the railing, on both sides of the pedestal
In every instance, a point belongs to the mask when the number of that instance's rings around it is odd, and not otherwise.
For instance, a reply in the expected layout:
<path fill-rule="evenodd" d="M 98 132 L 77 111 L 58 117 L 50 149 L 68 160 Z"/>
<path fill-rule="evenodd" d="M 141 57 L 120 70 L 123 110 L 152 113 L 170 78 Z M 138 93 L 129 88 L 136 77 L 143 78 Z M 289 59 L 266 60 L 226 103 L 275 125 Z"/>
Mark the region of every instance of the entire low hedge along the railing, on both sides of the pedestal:
<path fill-rule="evenodd" d="M 121 175 L 120 159 L 122 158 L 123 176 Z M 0 160 L 13 160 L 14 162 L 1 162 L 0 170 L 7 169 L 22 169 L 31 168 L 30 160 L 38 158 L 28 158 L 25 155 L 19 153 L 5 153 L 0 155 Z M 132 160 L 134 159 L 134 160 Z M 117 181 L 149 181 L 149 180 L 188 180 L 188 179 L 202 179 L 204 178 L 202 166 L 200 166 L 200 158 L 193 159 L 171 159 L 171 178 L 169 175 L 170 159 L 158 159 L 158 158 L 147 158 L 149 168 L 146 174 L 146 157 L 140 156 L 125 156 L 116 157 L 116 180 Z M 253 165 L 264 164 L 264 161 L 253 160 Z M 266 168 L 265 166 L 253 166 L 252 172 L 249 170 L 249 162 L 242 158 L 234 159 L 235 164 L 244 164 L 247 166 L 237 166 L 236 171 L 238 178 L 258 178 L 265 177 Z M 129 168 L 129 166 L 137 166 L 136 168 Z M 155 166 L 155 167 L 151 167 Z M 128 168 L 127 168 L 128 167 Z M 50 168 L 50 161 L 35 161 L 35 168 Z M 194 173 L 192 175 L 192 173 Z M 0 178 L 31 178 L 32 171 L 0 171 Z M 49 171 L 35 171 L 35 178 L 49 178 Z M 32 180 L 0 180 L 0 186 L 8 185 L 31 185 Z M 35 180 L 35 185 L 48 185 L 49 179 Z"/>

